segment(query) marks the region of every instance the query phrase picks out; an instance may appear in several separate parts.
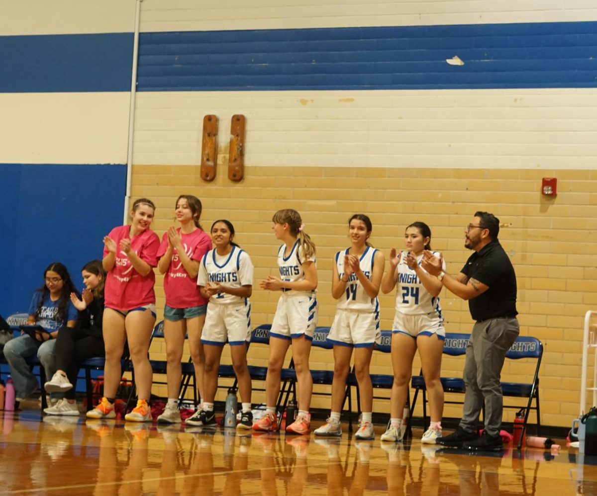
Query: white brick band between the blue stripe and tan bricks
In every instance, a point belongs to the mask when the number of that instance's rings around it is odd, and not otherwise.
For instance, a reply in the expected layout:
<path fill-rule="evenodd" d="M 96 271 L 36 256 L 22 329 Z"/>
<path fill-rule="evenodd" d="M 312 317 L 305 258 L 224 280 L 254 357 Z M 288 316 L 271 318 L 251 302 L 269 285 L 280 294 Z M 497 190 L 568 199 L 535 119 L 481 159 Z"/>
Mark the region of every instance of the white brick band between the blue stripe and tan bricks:
<path fill-rule="evenodd" d="M 133 162 L 201 163 L 205 114 L 246 165 L 592 169 L 597 89 L 141 92 Z"/>

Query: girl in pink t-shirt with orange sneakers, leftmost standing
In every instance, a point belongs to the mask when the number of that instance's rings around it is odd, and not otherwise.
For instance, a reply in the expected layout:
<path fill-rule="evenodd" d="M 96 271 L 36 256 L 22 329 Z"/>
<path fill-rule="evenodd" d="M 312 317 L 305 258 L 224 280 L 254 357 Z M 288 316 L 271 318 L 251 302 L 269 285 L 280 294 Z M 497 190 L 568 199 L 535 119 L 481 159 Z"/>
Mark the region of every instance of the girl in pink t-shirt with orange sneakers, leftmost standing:
<path fill-rule="evenodd" d="M 103 336 L 106 344 L 104 366 L 104 398 L 94 410 L 87 412 L 91 419 L 113 419 L 114 398 L 121 380 L 120 360 L 124 345 L 133 360 L 137 386 L 137 406 L 125 420 L 151 421 L 149 397 L 153 372 L 147 358 L 149 339 L 155 324 L 155 274 L 159 238 L 149 225 L 155 206 L 141 198 L 133 203 L 131 225 L 115 227 L 104 237 L 104 258 L 107 271 L 103 316 Z"/>

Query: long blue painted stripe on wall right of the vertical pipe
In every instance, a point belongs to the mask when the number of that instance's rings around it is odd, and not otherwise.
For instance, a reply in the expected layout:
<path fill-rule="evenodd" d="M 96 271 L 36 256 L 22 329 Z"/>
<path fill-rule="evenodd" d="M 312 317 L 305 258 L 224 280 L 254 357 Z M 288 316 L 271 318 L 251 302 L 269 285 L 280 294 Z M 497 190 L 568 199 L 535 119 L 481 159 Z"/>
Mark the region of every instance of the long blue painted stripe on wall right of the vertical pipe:
<path fill-rule="evenodd" d="M 464 66 L 450 66 L 458 55 Z M 141 33 L 139 91 L 594 88 L 597 23 Z"/>

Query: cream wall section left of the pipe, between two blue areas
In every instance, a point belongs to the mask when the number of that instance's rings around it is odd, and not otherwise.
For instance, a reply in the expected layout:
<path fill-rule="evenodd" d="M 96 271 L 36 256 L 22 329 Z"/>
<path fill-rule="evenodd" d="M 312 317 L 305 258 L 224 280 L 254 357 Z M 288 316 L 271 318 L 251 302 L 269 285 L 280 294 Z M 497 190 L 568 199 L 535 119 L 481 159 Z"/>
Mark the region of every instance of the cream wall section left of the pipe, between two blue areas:
<path fill-rule="evenodd" d="M 127 163 L 130 94 L 0 93 L 0 162 Z"/>

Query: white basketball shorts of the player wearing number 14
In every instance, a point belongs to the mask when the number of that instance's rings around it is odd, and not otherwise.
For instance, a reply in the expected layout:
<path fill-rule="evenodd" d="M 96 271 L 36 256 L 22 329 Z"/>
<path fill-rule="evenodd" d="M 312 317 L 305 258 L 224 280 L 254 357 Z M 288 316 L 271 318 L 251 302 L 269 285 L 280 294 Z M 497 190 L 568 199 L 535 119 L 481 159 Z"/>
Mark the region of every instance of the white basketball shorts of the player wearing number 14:
<path fill-rule="evenodd" d="M 338 309 L 328 334 L 334 345 L 367 348 L 381 339 L 378 312 Z"/>

